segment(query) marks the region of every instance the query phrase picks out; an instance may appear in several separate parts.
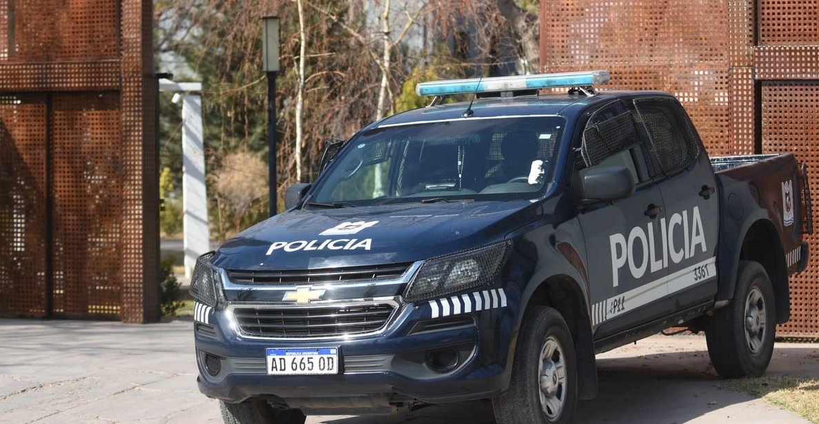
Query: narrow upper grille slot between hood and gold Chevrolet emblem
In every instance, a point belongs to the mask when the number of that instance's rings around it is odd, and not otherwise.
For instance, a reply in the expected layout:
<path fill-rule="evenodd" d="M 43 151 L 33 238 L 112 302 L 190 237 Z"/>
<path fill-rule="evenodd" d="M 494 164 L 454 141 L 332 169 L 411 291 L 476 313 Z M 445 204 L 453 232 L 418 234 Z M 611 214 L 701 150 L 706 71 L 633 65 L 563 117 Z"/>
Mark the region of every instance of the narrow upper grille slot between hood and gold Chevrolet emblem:
<path fill-rule="evenodd" d="M 398 278 L 411 264 L 391 264 L 364 267 L 323 268 L 293 271 L 228 270 L 231 282 L 239 285 L 292 285 L 318 282 L 355 282 Z"/>

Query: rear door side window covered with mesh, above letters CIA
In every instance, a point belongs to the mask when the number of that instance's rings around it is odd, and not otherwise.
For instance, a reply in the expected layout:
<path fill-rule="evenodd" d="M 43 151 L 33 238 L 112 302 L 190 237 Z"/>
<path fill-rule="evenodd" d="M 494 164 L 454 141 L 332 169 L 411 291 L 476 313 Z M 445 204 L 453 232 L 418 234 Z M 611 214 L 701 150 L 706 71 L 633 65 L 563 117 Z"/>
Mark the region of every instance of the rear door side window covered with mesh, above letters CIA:
<path fill-rule="evenodd" d="M 672 98 L 647 97 L 634 101 L 638 126 L 649 140 L 645 162 L 652 177 L 676 174 L 699 156 L 699 143 L 686 111 Z"/>

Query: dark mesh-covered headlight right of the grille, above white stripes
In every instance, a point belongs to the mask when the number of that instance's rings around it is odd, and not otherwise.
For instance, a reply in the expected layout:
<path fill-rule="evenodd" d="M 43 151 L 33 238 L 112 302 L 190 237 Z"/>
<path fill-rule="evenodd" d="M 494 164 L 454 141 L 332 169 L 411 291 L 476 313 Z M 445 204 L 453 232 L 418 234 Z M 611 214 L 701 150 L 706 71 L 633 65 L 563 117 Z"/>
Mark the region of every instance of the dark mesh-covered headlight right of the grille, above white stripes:
<path fill-rule="evenodd" d="M 404 298 L 409 302 L 437 299 L 490 283 L 511 250 L 512 241 L 505 240 L 428 259 L 409 282 Z"/>

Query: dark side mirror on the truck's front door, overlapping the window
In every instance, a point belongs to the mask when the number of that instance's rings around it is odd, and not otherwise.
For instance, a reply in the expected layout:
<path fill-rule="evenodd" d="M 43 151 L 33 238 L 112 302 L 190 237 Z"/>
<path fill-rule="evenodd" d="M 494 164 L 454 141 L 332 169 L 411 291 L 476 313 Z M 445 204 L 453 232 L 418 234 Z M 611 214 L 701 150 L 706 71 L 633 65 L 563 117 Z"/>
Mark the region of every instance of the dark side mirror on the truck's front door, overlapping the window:
<path fill-rule="evenodd" d="M 603 166 L 591 168 L 580 178 L 580 192 L 577 193 L 581 205 L 617 201 L 634 194 L 636 183 L 625 166 Z"/>

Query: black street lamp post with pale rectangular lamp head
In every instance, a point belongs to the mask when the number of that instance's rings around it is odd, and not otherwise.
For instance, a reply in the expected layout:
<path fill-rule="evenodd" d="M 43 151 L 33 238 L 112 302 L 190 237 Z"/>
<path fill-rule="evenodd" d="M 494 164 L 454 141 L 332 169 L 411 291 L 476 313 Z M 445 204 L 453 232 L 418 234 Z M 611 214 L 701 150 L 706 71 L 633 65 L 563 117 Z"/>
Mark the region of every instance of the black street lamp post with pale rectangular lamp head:
<path fill-rule="evenodd" d="M 267 74 L 267 144 L 269 161 L 270 216 L 276 214 L 278 183 L 276 182 L 276 74 L 278 65 L 278 16 L 264 16 L 262 43 L 265 52 L 263 70 Z"/>

